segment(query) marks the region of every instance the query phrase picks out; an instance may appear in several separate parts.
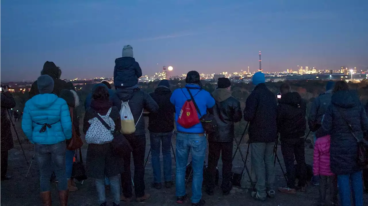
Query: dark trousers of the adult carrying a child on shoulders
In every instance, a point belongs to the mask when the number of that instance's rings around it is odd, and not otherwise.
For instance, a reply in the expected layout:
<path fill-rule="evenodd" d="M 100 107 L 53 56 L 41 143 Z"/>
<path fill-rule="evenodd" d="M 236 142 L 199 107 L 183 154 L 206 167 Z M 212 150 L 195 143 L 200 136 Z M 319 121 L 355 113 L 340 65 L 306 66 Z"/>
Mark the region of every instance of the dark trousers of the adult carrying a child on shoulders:
<path fill-rule="evenodd" d="M 140 198 L 145 195 L 144 190 L 146 189 L 144 184 L 144 155 L 146 152 L 146 137 L 125 135 L 125 138 L 129 141 L 130 146 L 133 148 L 131 153 L 133 154 L 134 161 L 134 191 L 135 196 Z M 121 173 L 121 186 L 123 188 L 124 197 L 126 198 L 131 198 L 132 196 L 130 157 L 130 153 L 123 155 L 124 172 Z"/>

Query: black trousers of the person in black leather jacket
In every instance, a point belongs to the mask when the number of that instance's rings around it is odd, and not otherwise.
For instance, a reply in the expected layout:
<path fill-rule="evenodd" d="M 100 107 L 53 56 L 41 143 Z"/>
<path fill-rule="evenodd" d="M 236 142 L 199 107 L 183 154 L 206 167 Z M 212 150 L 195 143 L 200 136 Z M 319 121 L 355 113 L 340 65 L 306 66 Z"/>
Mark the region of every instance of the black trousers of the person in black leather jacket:
<path fill-rule="evenodd" d="M 222 159 L 222 185 L 224 192 L 231 190 L 231 168 L 233 168 L 233 142 L 209 142 L 208 147 L 208 187 L 215 187 L 215 172 L 219 162 L 220 153 Z"/>

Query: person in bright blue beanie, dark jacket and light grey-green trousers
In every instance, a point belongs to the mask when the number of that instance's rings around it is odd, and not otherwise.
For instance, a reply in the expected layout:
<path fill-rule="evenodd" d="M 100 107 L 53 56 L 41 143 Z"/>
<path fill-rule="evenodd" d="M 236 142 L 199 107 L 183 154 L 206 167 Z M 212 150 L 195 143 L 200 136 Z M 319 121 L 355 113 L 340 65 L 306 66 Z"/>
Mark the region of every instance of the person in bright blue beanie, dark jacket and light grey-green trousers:
<path fill-rule="evenodd" d="M 257 191 L 252 192 L 252 197 L 265 201 L 266 196 L 275 198 L 273 148 L 277 138 L 277 102 L 275 95 L 266 87 L 265 74 L 255 73 L 252 82 L 256 86 L 248 96 L 244 109 L 244 120 L 249 122 L 251 161 L 257 180 Z"/>

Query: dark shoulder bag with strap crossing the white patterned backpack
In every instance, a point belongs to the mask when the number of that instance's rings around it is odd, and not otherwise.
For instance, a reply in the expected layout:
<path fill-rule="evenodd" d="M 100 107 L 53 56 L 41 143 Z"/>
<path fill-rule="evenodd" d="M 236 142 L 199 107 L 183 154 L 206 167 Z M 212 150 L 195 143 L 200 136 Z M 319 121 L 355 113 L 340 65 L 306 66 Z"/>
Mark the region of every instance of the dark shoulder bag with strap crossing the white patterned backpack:
<path fill-rule="evenodd" d="M 106 127 L 107 130 L 111 131 L 111 127 L 105 122 L 105 120 L 102 119 L 100 115 L 96 113 L 96 117 L 98 120 L 103 124 L 103 126 Z M 116 155 L 123 155 L 126 152 L 130 153 L 133 149 L 130 146 L 127 139 L 125 139 L 124 135 L 120 132 L 113 132 L 111 131 L 112 135 L 114 136 L 113 141 L 111 142 L 111 145 L 113 147 L 113 152 Z"/>

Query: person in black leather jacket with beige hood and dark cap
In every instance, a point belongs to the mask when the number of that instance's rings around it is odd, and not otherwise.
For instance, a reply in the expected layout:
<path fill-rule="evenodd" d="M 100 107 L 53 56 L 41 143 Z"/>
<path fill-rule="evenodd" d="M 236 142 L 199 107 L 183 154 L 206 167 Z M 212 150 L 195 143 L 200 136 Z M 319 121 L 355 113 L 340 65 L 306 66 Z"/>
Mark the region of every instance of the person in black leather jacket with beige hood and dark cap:
<path fill-rule="evenodd" d="M 228 195 L 232 188 L 231 169 L 233 168 L 234 122 L 241 120 L 240 102 L 231 96 L 231 82 L 228 78 L 219 78 L 217 89 L 212 93 L 216 101 L 213 114 L 217 122 L 217 131 L 208 137 L 209 183 L 206 192 L 213 195 L 215 187 L 215 169 L 222 157 L 222 192 Z"/>

